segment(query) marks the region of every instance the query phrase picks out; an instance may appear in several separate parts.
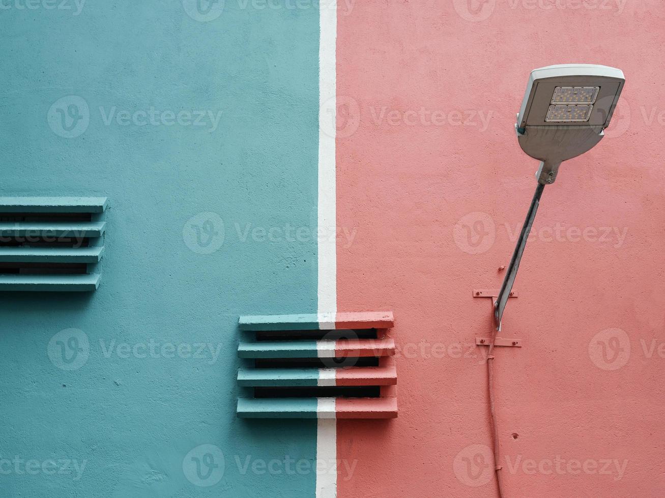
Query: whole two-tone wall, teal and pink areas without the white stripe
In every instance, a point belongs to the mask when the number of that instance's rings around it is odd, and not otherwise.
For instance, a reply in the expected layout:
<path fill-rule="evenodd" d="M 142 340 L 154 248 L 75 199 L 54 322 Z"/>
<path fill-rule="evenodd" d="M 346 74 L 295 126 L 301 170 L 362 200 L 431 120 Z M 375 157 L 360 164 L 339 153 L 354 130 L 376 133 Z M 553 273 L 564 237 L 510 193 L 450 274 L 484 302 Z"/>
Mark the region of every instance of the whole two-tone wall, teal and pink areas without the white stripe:
<path fill-rule="evenodd" d="M 535 187 L 513 131 L 529 71 L 561 62 L 626 86 L 545 189 L 505 313 L 524 345 L 496 351 L 505 495 L 662 495 L 665 9 L 338 3 L 337 308 L 394 311 L 400 416 L 337 423 L 337 495 L 495 495 L 471 293 L 500 286 Z M 315 495 L 316 421 L 234 410 L 237 316 L 317 311 L 319 12 L 2 5 L 1 194 L 110 207 L 98 291 L 0 296 L 0 494 Z M 49 116 L 71 96 L 88 124 L 66 131 Z M 49 346 L 63 330 L 88 340 L 76 369 Z"/>

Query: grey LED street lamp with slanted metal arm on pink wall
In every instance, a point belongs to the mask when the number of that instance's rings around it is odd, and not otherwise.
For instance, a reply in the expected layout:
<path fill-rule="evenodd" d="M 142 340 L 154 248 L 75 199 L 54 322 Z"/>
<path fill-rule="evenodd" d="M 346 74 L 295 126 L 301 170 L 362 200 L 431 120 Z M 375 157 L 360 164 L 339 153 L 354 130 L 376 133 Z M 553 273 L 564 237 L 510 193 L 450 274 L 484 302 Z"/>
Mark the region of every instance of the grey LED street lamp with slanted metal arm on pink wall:
<path fill-rule="evenodd" d="M 522 150 L 541 164 L 531 207 L 495 303 L 497 328 L 545 185 L 554 183 L 563 161 L 599 143 L 625 81 L 620 69 L 595 64 L 559 64 L 531 71 L 515 131 Z"/>

